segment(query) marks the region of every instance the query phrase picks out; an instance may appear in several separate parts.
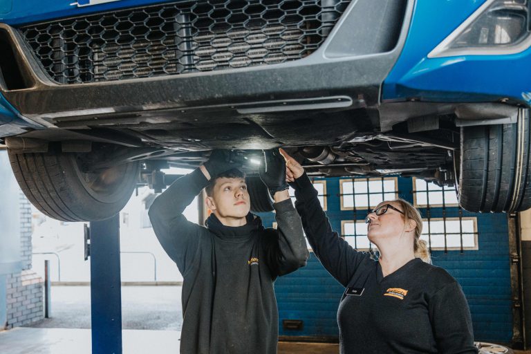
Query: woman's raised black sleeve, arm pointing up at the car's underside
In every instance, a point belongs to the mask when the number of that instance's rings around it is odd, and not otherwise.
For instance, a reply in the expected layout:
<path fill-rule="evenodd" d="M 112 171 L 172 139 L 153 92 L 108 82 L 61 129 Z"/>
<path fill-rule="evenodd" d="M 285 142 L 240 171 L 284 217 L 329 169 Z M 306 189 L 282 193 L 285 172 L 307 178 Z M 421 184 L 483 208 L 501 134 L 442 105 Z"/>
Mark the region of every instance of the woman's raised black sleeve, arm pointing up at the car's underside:
<path fill-rule="evenodd" d="M 295 189 L 295 207 L 315 256 L 339 283 L 347 286 L 366 254 L 357 252 L 332 230 L 306 173 L 290 185 Z"/>

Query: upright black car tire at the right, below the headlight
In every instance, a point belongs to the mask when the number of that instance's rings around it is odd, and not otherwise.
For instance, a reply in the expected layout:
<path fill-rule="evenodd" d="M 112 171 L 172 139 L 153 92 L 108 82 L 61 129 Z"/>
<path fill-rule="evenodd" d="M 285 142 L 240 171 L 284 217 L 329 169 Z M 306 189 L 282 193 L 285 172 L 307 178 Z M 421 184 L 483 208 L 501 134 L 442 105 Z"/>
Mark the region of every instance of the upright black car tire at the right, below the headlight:
<path fill-rule="evenodd" d="M 531 207 L 529 110 L 516 124 L 461 128 L 458 199 L 469 212 L 521 212 Z"/>

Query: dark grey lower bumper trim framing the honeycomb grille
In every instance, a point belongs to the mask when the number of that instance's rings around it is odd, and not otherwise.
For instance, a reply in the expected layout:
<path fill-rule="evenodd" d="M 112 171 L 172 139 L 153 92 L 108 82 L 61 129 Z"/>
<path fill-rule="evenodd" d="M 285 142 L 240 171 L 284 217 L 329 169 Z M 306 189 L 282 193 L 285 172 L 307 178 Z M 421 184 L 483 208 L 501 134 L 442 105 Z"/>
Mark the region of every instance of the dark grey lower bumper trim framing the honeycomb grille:
<path fill-rule="evenodd" d="M 131 6 L 139 1 L 117 1 L 97 6 Z M 152 3 L 145 1 L 145 3 Z M 17 43 L 17 55 L 25 72 L 35 85 L 24 90 L 6 91 L 4 94 L 14 106 L 30 118 L 50 118 L 151 109 L 203 108 L 211 106 L 271 102 L 279 100 L 307 100 L 308 98 L 348 96 L 351 109 L 378 104 L 380 85 L 389 73 L 405 40 L 413 1 L 405 10 L 401 34 L 392 50 L 384 53 L 356 55 L 357 48 L 340 51 L 348 29 L 359 26 L 356 9 L 370 8 L 369 1 L 352 1 L 344 16 L 315 53 L 281 64 L 252 66 L 223 71 L 166 75 L 113 82 L 84 84 L 57 84 L 35 59 L 24 38 L 9 24 L 0 24 Z M 75 10 L 80 15 L 86 8 Z M 63 14 L 64 15 L 64 14 Z M 10 24 L 19 23 L 12 19 Z M 18 26 L 18 25 L 17 25 Z M 347 30 L 345 30 L 346 28 Z M 370 38 L 371 33 L 366 33 Z M 339 44 L 338 44 L 339 43 Z M 24 70 L 23 70 L 24 71 Z M 257 82 L 260 84 L 257 85 Z M 336 106 L 330 106 L 335 109 Z M 72 113 L 74 112 L 75 113 Z M 56 113 L 50 115 L 49 113 Z"/>

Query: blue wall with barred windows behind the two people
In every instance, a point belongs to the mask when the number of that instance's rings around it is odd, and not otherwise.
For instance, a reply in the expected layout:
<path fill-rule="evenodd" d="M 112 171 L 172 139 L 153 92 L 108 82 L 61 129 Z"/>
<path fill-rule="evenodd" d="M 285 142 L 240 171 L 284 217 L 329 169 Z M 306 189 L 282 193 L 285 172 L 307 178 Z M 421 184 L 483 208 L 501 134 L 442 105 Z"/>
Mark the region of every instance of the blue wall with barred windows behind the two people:
<path fill-rule="evenodd" d="M 401 198 L 413 201 L 413 181 L 398 178 Z M 326 178 L 326 214 L 332 227 L 341 232 L 342 220 L 353 220 L 353 212 L 340 209 L 339 178 Z M 426 216 L 426 209 L 420 209 Z M 442 208 L 430 209 L 432 218 L 442 217 Z M 446 216 L 458 216 L 458 208 L 447 207 Z M 478 225 L 478 250 L 434 251 L 434 265 L 445 268 L 454 276 L 469 301 L 476 341 L 510 343 L 512 339 L 512 300 L 510 286 L 510 259 L 506 214 L 475 214 Z M 270 227 L 274 214 L 261 214 L 263 223 Z M 357 213 L 363 219 L 364 213 Z M 313 253 L 305 268 L 277 279 L 275 284 L 279 304 L 280 335 L 338 336 L 336 313 L 343 287 L 337 283 Z M 283 330 L 283 319 L 301 319 L 302 330 Z"/>

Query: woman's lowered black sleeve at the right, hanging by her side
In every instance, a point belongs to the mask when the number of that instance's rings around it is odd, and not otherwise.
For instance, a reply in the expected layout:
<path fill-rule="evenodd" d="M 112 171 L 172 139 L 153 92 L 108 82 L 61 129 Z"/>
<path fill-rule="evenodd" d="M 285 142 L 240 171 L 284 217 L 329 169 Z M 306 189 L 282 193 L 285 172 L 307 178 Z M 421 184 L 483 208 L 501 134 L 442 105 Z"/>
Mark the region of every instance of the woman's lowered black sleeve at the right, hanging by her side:
<path fill-rule="evenodd" d="M 438 353 L 478 353 L 467 299 L 456 281 L 438 290 L 429 301 L 429 316 Z"/>

